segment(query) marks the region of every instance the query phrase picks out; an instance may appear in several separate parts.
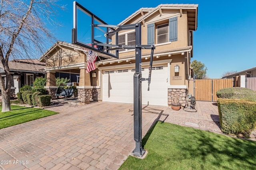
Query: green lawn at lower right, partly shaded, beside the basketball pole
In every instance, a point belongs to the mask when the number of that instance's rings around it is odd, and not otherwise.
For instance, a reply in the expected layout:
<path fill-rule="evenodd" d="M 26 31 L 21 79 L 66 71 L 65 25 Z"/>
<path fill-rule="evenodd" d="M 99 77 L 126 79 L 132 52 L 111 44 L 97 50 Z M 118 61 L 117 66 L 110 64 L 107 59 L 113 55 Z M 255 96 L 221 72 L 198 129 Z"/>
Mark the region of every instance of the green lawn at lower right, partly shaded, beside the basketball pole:
<path fill-rule="evenodd" d="M 256 141 L 158 122 L 142 140 L 146 158 L 129 156 L 120 170 L 252 170 Z"/>

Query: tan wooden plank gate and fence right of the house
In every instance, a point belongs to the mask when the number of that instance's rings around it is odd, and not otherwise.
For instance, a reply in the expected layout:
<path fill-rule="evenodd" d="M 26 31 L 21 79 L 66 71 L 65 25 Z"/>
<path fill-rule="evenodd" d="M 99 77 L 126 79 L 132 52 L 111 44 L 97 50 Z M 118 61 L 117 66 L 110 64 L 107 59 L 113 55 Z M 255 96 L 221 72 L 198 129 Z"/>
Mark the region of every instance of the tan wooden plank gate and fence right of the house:
<path fill-rule="evenodd" d="M 194 81 L 195 98 L 199 101 L 216 102 L 216 92 L 222 88 L 233 87 L 233 79 L 198 79 Z"/>

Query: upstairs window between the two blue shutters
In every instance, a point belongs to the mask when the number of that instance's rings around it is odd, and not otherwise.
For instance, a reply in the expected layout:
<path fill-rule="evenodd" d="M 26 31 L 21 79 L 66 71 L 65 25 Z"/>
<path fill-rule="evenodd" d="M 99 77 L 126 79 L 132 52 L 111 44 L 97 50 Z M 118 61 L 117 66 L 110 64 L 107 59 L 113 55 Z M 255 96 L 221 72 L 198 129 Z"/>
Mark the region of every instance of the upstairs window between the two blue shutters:
<path fill-rule="evenodd" d="M 156 30 L 158 44 L 169 42 L 169 23 L 158 25 Z"/>

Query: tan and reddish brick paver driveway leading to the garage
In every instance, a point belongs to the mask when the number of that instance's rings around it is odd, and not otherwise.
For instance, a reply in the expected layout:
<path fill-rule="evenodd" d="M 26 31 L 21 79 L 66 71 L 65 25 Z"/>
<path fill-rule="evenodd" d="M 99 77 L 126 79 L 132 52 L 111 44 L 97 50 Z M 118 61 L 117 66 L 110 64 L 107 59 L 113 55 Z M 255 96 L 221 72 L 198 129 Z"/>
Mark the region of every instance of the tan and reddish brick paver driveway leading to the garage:
<path fill-rule="evenodd" d="M 135 147 L 132 104 L 57 105 L 59 114 L 0 129 L 0 169 L 118 169 Z M 143 136 L 167 107 L 143 111 Z"/>

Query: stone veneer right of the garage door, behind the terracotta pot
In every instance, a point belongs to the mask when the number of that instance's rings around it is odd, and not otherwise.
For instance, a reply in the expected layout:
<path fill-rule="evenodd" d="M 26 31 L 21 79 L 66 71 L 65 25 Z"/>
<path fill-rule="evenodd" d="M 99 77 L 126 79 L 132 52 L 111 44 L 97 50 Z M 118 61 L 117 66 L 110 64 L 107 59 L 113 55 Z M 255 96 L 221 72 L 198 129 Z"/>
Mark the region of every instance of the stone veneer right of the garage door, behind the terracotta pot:
<path fill-rule="evenodd" d="M 172 98 L 175 94 L 179 95 L 179 102 L 182 107 L 186 106 L 186 89 L 168 89 L 168 105 L 172 104 Z"/>

